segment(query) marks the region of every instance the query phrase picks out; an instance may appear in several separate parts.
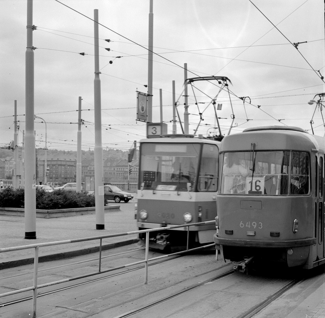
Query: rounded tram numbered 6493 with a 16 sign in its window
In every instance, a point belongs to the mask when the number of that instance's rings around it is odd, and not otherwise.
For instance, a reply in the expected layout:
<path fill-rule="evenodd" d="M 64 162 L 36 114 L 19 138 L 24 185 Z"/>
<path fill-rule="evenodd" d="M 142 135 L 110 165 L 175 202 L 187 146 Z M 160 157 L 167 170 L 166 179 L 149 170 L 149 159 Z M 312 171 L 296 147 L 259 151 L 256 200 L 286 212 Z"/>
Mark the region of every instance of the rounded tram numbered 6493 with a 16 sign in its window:
<path fill-rule="evenodd" d="M 254 260 L 307 269 L 325 263 L 324 142 L 287 126 L 223 138 L 214 243 L 234 269 Z"/>

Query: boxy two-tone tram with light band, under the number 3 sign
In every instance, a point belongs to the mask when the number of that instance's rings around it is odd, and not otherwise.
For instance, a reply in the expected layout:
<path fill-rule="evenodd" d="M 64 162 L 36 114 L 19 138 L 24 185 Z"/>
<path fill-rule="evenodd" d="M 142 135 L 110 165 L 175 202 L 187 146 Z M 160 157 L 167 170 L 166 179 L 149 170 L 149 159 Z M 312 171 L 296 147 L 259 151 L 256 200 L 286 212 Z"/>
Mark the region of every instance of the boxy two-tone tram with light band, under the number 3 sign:
<path fill-rule="evenodd" d="M 187 227 L 171 225 L 214 220 L 220 141 L 174 134 L 140 140 L 136 222 L 149 232 L 149 247 L 177 250 L 187 246 Z M 189 227 L 189 247 L 213 243 L 215 225 Z M 140 234 L 145 244 L 146 233 Z"/>

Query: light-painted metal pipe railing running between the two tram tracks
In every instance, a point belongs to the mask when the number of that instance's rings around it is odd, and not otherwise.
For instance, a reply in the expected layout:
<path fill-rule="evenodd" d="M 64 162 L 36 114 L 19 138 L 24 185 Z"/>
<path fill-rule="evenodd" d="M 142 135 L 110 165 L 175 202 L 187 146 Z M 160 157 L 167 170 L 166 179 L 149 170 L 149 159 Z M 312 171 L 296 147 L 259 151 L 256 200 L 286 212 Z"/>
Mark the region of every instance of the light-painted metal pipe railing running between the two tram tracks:
<path fill-rule="evenodd" d="M 0 249 L 0 253 L 19 251 L 19 250 L 27 250 L 27 249 L 35 249 L 35 253 L 34 253 L 33 286 L 22 288 L 22 289 L 17 289 L 17 290 L 11 291 L 11 292 L 0 294 L 0 298 L 32 290 L 33 291 L 33 305 L 32 305 L 33 306 L 33 308 L 32 308 L 33 313 L 32 313 L 32 318 L 36 318 L 36 298 L 37 298 L 37 290 L 39 288 L 53 286 L 53 285 L 64 283 L 64 282 L 70 282 L 70 281 L 74 281 L 74 280 L 77 280 L 77 279 L 82 279 L 82 278 L 85 278 L 85 277 L 99 275 L 99 274 L 107 273 L 107 272 L 110 272 L 110 271 L 113 271 L 113 270 L 117 270 L 117 269 L 121 269 L 121 268 L 125 268 L 125 267 L 130 267 L 130 266 L 134 266 L 134 265 L 138 265 L 138 264 L 143 264 L 143 263 L 145 264 L 144 283 L 148 284 L 148 263 L 149 263 L 149 261 L 153 261 L 153 260 L 157 260 L 157 259 L 160 259 L 160 258 L 169 257 L 171 255 L 187 253 L 187 252 L 190 252 L 190 251 L 195 251 L 195 250 L 199 250 L 199 249 L 214 246 L 214 243 L 212 243 L 212 244 L 208 244 L 208 245 L 204 245 L 204 246 L 200 246 L 200 247 L 196 247 L 196 248 L 192 248 L 192 249 L 188 248 L 189 227 L 190 226 L 209 225 L 209 224 L 215 224 L 215 221 L 206 221 L 206 222 L 201 222 L 201 223 L 182 224 L 182 225 L 173 225 L 173 226 L 164 227 L 164 230 L 187 227 L 187 247 L 186 247 L 186 250 L 176 252 L 176 253 L 171 253 L 171 254 L 164 254 L 164 255 L 161 255 L 161 256 L 153 257 L 153 258 L 149 258 L 149 232 L 160 231 L 162 229 L 161 227 L 146 229 L 146 230 L 139 230 L 139 231 L 117 233 L 117 234 L 94 236 L 94 237 L 89 237 L 89 238 L 69 239 L 69 240 L 63 240 L 63 241 L 54 241 L 54 242 L 46 242 L 46 243 L 29 244 L 29 245 L 21 245 L 21 246 L 2 248 L 2 249 Z M 137 261 L 137 262 L 134 262 L 134 263 L 125 264 L 125 265 L 118 266 L 118 267 L 112 267 L 112 268 L 109 268 L 109 269 L 101 270 L 101 252 L 102 252 L 102 240 L 103 239 L 113 238 L 113 237 L 118 237 L 118 236 L 140 234 L 140 233 L 146 233 L 146 247 L 145 247 L 145 259 L 144 260 Z M 48 282 L 48 283 L 45 283 L 45 284 L 37 285 L 39 248 L 45 247 L 45 246 L 54 246 L 54 245 L 63 245 L 63 244 L 69 244 L 69 243 L 84 242 L 84 241 L 90 241 L 90 240 L 96 240 L 96 239 L 100 240 L 100 243 L 99 243 L 98 271 L 92 272 L 92 273 L 89 273 L 89 274 L 85 274 L 85 275 L 79 275 L 79 276 L 71 277 L 71 278 L 68 278 L 68 279 L 63 279 L 63 280 L 59 280 L 59 281 Z"/>

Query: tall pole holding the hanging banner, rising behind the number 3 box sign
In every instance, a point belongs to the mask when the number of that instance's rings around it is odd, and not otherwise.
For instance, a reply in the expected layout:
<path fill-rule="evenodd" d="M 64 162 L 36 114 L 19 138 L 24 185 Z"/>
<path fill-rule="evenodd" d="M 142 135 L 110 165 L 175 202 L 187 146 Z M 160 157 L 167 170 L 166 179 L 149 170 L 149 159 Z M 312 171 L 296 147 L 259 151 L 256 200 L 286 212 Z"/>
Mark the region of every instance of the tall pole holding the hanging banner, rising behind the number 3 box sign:
<path fill-rule="evenodd" d="M 153 50 L 153 1 L 149 3 L 149 39 L 148 39 L 148 123 L 152 123 L 152 50 Z"/>

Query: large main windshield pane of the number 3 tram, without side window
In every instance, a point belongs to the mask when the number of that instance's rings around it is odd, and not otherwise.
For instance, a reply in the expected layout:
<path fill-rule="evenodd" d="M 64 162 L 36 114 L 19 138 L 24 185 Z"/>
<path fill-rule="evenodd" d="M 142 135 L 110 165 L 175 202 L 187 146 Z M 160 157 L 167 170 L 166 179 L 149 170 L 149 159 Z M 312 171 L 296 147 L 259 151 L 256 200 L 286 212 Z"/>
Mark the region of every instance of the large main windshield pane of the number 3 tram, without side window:
<path fill-rule="evenodd" d="M 200 144 L 144 143 L 141 146 L 140 184 L 145 190 L 194 191 Z"/>

